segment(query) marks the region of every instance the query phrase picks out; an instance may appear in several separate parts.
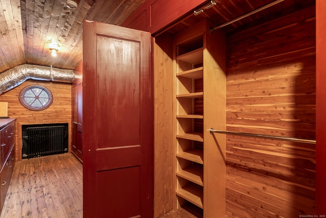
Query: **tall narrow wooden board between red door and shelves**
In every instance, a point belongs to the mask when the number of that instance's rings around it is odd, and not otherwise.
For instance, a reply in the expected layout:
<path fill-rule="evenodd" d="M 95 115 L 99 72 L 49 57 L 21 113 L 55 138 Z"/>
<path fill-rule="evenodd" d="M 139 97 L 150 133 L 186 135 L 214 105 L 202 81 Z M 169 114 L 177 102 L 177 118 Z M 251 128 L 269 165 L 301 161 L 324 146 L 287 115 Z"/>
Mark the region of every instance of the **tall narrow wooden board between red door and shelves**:
<path fill-rule="evenodd" d="M 173 60 L 172 36 L 154 42 L 154 217 L 172 210 L 173 188 Z"/>

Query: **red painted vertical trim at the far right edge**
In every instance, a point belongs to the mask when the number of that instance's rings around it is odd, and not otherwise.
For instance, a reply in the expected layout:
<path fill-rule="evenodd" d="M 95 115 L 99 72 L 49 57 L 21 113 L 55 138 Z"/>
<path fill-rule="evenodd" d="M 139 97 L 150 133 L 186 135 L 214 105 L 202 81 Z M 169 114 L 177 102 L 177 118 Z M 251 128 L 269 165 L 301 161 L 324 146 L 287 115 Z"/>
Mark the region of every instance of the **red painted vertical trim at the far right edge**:
<path fill-rule="evenodd" d="M 326 1 L 316 1 L 316 213 L 326 215 Z"/>

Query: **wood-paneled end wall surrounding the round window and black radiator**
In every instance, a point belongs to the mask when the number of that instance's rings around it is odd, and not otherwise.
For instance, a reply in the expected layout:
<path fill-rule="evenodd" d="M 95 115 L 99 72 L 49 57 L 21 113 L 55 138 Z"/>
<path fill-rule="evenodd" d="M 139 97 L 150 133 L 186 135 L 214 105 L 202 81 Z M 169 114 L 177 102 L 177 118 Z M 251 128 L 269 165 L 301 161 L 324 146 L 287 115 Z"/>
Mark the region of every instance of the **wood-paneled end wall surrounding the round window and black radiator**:
<path fill-rule="evenodd" d="M 43 111 L 31 111 L 23 107 L 18 95 L 20 90 L 29 85 L 42 85 L 53 95 L 50 107 Z M 71 146 L 71 84 L 48 81 L 27 80 L 16 88 L 0 95 L 0 101 L 8 102 L 8 116 L 16 118 L 16 159 L 21 160 L 21 125 L 68 123 L 69 151 Z"/>

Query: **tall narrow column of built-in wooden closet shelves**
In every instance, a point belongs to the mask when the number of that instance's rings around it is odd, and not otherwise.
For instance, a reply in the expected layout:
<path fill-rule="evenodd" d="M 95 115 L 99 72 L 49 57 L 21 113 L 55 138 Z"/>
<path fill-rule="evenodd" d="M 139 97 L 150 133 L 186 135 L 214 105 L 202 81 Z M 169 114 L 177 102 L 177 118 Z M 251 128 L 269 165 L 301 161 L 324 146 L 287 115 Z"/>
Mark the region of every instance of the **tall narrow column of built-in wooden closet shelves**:
<path fill-rule="evenodd" d="M 197 211 L 204 199 L 203 50 L 203 34 L 175 44 L 176 195 Z"/>

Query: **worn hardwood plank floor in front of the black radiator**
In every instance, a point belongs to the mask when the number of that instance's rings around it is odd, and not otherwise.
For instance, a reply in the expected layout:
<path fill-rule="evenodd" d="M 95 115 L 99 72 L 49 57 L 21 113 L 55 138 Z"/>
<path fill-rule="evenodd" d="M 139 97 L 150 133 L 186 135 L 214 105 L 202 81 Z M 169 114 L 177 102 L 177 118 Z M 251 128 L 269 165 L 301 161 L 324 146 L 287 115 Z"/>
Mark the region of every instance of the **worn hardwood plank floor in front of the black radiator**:
<path fill-rule="evenodd" d="M 82 164 L 72 154 L 16 162 L 0 217 L 83 217 Z"/>

